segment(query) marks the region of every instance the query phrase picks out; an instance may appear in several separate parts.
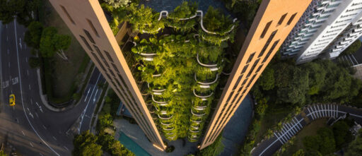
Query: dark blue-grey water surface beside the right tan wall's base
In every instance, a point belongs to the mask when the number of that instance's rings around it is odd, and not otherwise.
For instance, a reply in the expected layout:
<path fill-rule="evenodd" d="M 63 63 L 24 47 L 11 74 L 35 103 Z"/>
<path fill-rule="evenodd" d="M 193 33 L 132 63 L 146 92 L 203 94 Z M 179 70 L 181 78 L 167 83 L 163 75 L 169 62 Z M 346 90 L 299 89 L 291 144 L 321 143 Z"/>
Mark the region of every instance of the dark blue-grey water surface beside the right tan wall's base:
<path fill-rule="evenodd" d="M 236 155 L 252 120 L 252 99 L 247 95 L 223 130 L 221 155 Z"/>

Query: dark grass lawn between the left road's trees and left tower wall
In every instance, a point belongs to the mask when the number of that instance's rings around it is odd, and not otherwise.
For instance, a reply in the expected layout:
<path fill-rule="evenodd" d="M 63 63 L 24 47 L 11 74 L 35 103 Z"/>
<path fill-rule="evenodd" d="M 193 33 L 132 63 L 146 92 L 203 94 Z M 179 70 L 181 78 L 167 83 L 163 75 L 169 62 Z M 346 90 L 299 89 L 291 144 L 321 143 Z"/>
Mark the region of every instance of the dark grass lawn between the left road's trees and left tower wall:
<path fill-rule="evenodd" d="M 52 26 L 57 28 L 59 34 L 71 36 L 71 45 L 65 52 L 69 61 L 64 61 L 59 56 L 54 55 L 54 59 L 45 70 L 51 70 L 51 88 L 52 97 L 57 102 L 70 100 L 74 90 L 80 84 L 81 77 L 83 76 L 89 58 L 84 52 L 81 45 L 78 43 L 74 35 L 66 26 L 62 18 L 57 14 L 49 1 L 43 2 L 43 15 L 40 16 L 40 21 L 45 26 Z M 48 91 L 47 91 L 48 92 Z"/>

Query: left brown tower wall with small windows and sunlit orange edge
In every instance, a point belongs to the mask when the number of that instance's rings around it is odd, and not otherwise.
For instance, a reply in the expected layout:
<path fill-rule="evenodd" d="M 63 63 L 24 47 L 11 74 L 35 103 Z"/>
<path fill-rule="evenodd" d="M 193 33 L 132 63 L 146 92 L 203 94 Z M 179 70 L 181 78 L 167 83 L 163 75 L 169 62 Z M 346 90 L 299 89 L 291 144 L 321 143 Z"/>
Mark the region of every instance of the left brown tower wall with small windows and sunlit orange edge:
<path fill-rule="evenodd" d="M 160 150 L 163 140 L 148 112 L 136 80 L 98 0 L 50 0 L 64 23 L 126 105 L 149 140 Z"/>

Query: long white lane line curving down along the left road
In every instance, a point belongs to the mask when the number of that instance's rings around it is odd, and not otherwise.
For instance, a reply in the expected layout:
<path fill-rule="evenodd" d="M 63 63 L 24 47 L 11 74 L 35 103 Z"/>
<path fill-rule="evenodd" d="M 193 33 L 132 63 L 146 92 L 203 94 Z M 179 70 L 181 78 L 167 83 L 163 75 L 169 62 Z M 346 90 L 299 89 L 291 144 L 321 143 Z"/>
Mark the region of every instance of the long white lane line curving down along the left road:
<path fill-rule="evenodd" d="M 19 62 L 19 52 L 18 52 L 18 46 L 17 46 L 17 42 L 18 42 L 18 39 L 17 39 L 17 35 L 16 35 L 16 20 L 14 19 L 14 29 L 15 29 L 15 38 L 16 38 L 16 56 L 17 56 L 17 58 L 18 58 L 18 73 L 19 73 L 19 78 L 20 78 L 20 81 L 21 81 L 21 72 L 20 72 L 20 62 Z M 20 83 L 20 90 L 21 90 L 21 92 L 23 92 L 23 89 L 22 89 L 22 86 L 21 86 L 21 83 Z M 37 131 L 35 131 L 35 128 L 34 128 L 34 126 L 33 126 L 33 124 L 31 124 L 31 122 L 30 122 L 30 120 L 29 120 L 29 118 L 28 118 L 28 115 L 26 114 L 26 112 L 25 112 L 25 106 L 24 106 L 24 102 L 23 102 L 23 94 L 21 94 L 21 104 L 23 105 L 23 112 L 24 112 L 24 114 L 25 114 L 25 117 L 26 117 L 26 119 L 28 120 L 28 122 L 29 122 L 29 124 L 30 124 L 30 126 L 31 126 L 31 128 L 33 128 L 33 131 L 37 134 L 37 137 L 39 137 L 40 138 L 40 140 L 42 140 L 42 142 L 45 144 L 45 145 L 47 145 L 47 147 L 50 149 L 50 150 L 52 150 L 56 155 L 58 155 L 58 156 L 60 156 L 57 152 L 55 152 L 55 150 L 52 148 L 52 147 L 50 147 L 48 144 L 47 144 L 47 142 L 45 142 L 45 140 L 43 140 L 42 139 L 42 137 L 40 137 L 40 135 L 37 133 Z M 30 144 L 31 145 L 31 144 Z"/>

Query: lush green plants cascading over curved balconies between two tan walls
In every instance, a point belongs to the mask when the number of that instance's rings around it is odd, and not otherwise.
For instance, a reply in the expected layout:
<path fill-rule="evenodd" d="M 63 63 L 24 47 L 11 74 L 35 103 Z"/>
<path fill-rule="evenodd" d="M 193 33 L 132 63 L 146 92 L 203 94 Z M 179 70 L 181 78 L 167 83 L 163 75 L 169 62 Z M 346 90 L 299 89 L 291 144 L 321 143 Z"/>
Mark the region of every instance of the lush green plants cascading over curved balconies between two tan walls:
<path fill-rule="evenodd" d="M 125 9 L 124 19 L 132 30 L 148 34 L 140 35 L 142 39 L 134 37 L 132 52 L 141 80 L 148 83 L 146 103 L 156 110 L 153 116 L 157 116 L 158 128 L 168 140 L 187 137 L 197 141 L 211 112 L 218 76 L 226 62 L 224 49 L 233 40 L 235 23 L 210 7 L 203 23 L 215 33 L 204 32 L 198 24 L 197 4 L 187 1 L 160 20 L 159 13 L 143 5 L 130 4 Z M 172 34 L 162 33 L 165 27 Z"/>

